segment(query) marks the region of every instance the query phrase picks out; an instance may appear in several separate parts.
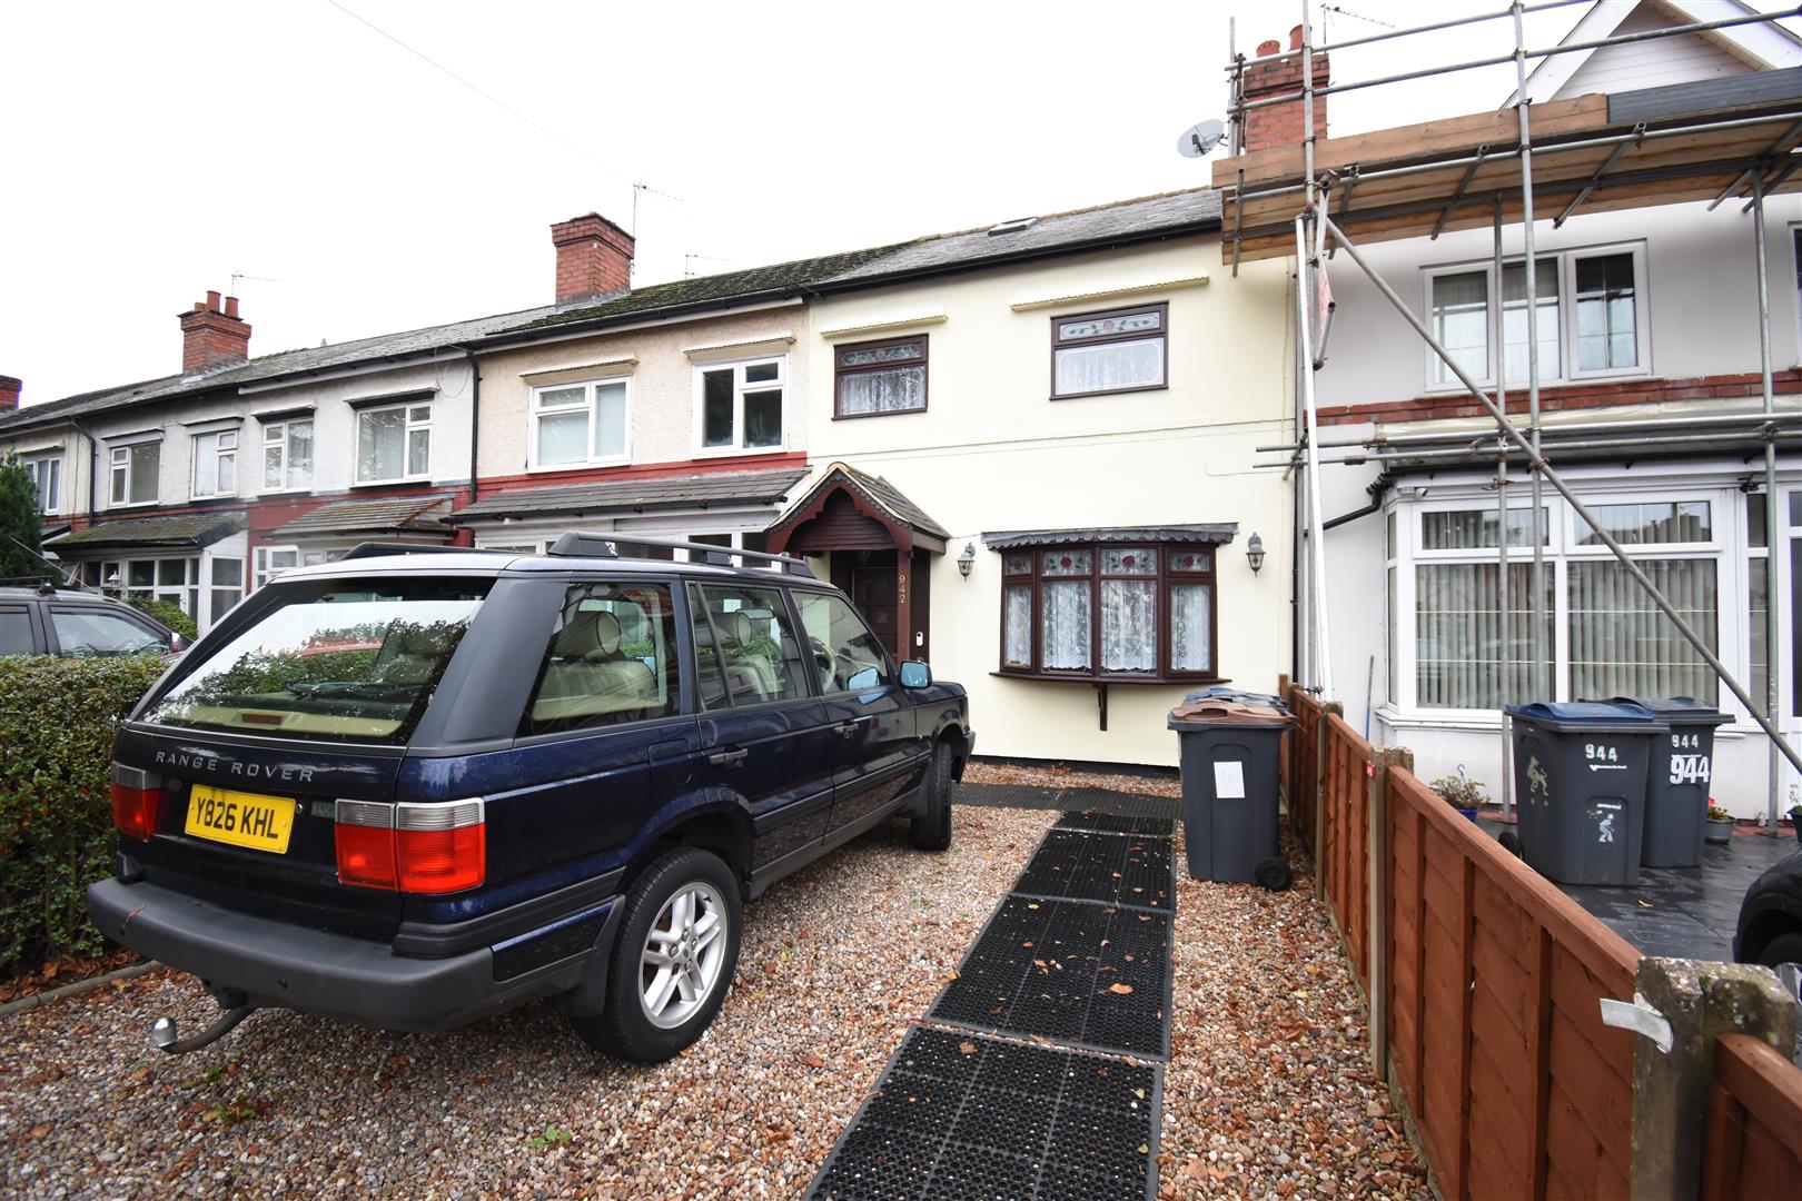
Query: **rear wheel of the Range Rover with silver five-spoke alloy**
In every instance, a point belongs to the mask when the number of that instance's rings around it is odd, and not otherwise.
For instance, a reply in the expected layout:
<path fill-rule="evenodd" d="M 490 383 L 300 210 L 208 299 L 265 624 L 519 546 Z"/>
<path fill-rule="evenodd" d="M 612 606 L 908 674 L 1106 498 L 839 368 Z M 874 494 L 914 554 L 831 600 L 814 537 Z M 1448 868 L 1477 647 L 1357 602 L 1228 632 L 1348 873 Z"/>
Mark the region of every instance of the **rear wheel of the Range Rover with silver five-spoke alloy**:
<path fill-rule="evenodd" d="M 569 1025 L 596 1052 L 658 1064 L 719 1012 L 739 963 L 744 904 L 732 868 L 696 846 L 656 859 L 622 904 L 607 1005 Z"/>

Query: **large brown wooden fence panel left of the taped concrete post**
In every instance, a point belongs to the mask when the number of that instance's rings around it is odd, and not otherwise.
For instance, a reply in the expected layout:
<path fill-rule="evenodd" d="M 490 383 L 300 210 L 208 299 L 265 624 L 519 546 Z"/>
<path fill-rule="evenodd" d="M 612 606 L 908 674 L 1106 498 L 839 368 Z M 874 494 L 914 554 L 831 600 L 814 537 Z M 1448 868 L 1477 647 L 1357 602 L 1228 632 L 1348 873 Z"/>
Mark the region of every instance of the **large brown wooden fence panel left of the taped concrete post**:
<path fill-rule="evenodd" d="M 1442 1194 L 1624 1196 L 1633 1035 L 1598 1001 L 1633 996 L 1638 953 L 1411 772 L 1388 783 L 1389 1062 Z"/>

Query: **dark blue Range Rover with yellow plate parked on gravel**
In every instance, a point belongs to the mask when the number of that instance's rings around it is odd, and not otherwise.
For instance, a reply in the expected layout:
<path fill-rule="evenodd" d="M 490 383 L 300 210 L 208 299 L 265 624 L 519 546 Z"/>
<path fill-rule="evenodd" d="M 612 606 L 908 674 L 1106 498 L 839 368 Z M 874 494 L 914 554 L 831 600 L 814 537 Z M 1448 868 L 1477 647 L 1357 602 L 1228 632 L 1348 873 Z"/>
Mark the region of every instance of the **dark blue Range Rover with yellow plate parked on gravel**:
<path fill-rule="evenodd" d="M 964 690 L 791 558 L 364 546 L 285 573 L 139 704 L 110 938 L 259 1007 L 447 1030 L 555 998 L 591 1046 L 699 1037 L 742 902 L 878 823 L 951 839 Z M 755 562 L 735 567 L 733 560 Z"/>

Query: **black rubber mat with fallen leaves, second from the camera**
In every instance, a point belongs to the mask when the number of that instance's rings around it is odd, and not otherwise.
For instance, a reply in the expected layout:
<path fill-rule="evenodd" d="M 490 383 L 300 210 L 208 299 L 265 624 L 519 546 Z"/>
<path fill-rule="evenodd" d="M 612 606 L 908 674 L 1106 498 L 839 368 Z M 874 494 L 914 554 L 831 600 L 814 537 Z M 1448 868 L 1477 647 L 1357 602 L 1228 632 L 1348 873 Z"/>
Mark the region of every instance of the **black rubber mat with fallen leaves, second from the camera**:
<path fill-rule="evenodd" d="M 1164 913 L 1011 895 L 928 1017 L 1168 1059 L 1169 936 Z"/>

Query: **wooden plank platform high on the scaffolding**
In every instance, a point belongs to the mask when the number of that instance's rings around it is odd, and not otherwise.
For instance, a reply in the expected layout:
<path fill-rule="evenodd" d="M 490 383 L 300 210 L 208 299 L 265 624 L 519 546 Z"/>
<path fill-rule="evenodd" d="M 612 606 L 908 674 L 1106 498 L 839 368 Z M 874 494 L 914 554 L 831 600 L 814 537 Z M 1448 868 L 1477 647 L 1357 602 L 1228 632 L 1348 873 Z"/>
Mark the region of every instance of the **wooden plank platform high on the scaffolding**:
<path fill-rule="evenodd" d="M 1323 88 L 1321 94 L 1342 90 Z M 1802 189 L 1802 67 L 1577 95 L 1532 106 L 1534 212 L 1643 209 Z M 1521 220 L 1515 108 L 1321 139 L 1314 171 L 1353 241 L 1438 238 Z M 1296 254 L 1306 203 L 1303 144 L 1218 158 L 1222 229 L 1233 263 Z"/>

